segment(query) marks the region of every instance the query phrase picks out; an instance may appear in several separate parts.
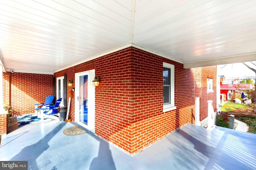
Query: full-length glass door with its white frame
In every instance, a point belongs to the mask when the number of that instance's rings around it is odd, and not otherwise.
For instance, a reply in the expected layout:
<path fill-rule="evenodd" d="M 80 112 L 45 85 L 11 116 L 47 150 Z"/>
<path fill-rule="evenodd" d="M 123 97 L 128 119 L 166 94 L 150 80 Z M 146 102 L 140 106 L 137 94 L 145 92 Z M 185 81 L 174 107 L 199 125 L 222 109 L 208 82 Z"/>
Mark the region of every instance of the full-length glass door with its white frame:
<path fill-rule="evenodd" d="M 94 70 L 75 74 L 75 121 L 93 131 L 95 125 Z"/>

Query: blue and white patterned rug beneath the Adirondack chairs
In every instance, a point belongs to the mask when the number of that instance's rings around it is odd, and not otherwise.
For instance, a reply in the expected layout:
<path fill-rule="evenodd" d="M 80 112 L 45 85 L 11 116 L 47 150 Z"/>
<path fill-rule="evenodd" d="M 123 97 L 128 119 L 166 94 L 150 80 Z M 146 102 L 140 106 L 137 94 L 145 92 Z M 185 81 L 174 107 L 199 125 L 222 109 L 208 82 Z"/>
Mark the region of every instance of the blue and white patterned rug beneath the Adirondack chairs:
<path fill-rule="evenodd" d="M 46 117 L 44 118 L 44 121 L 48 121 L 48 120 L 50 121 L 51 119 L 48 119 Z M 18 121 L 18 126 L 42 122 L 41 118 L 38 118 L 36 114 L 17 116 L 17 121 Z"/>

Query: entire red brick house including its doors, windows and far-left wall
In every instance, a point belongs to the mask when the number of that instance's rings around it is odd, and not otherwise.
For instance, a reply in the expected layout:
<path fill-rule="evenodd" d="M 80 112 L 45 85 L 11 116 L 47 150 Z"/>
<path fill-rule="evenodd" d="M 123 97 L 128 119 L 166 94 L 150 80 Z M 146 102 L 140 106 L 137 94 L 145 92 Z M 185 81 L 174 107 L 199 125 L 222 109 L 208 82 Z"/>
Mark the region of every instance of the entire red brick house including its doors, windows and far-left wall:
<path fill-rule="evenodd" d="M 187 123 L 205 126 L 207 101 L 217 105 L 216 66 L 184 69 L 181 63 L 135 47 L 54 75 L 3 76 L 4 101 L 15 115 L 33 113 L 33 104 L 48 95 L 66 98 L 67 106 L 70 94 L 69 118 L 131 155 Z M 95 76 L 100 77 L 96 87 Z M 67 80 L 73 80 L 72 86 Z"/>

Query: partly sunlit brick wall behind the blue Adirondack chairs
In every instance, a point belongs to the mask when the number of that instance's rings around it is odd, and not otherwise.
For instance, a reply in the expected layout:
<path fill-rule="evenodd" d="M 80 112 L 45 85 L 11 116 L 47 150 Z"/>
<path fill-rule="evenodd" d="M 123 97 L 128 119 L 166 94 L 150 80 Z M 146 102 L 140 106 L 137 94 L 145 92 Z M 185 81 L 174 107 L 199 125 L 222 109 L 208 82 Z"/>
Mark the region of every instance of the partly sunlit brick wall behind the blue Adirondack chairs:
<path fill-rule="evenodd" d="M 53 95 L 53 75 L 6 72 L 3 84 L 4 102 L 10 104 L 13 115 L 34 113 L 33 104 Z"/>

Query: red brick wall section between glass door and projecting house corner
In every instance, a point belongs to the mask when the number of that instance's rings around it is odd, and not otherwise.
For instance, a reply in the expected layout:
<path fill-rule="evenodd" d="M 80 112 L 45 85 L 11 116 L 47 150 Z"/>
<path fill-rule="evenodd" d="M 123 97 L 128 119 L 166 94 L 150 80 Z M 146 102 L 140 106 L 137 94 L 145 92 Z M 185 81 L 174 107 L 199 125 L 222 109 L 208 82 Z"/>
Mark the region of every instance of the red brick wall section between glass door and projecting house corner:
<path fill-rule="evenodd" d="M 114 145 L 132 150 L 133 84 L 131 48 L 95 61 L 95 133 Z"/>

